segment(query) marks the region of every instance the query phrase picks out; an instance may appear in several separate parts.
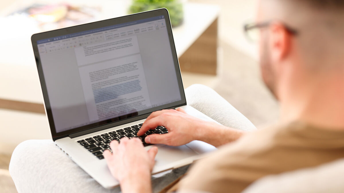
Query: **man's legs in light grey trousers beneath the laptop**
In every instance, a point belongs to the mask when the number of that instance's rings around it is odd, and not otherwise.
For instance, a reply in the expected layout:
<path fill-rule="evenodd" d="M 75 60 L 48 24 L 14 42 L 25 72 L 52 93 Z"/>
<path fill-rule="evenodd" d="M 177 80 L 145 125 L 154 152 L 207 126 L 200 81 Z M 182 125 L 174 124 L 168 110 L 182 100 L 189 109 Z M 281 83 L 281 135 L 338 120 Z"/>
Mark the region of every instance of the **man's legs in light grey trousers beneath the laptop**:
<path fill-rule="evenodd" d="M 219 123 L 254 130 L 254 125 L 214 90 L 195 84 L 185 89 L 187 104 Z M 153 176 L 153 190 L 179 178 L 187 167 L 169 170 Z M 52 140 L 24 141 L 14 150 L 10 173 L 18 192 L 119 192 L 119 188 L 104 189 L 79 168 Z M 135 183 L 135 182 L 133 182 Z"/>

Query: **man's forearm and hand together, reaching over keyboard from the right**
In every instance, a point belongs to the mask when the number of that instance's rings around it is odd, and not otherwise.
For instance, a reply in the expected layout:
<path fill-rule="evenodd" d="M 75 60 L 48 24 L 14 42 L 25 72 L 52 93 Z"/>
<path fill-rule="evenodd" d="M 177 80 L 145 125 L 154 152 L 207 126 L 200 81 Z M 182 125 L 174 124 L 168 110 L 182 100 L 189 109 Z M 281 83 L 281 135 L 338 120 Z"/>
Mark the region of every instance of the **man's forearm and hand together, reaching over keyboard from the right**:
<path fill-rule="evenodd" d="M 201 140 L 216 147 L 235 141 L 245 132 L 222 126 L 213 122 L 206 122 L 185 113 L 181 108 L 177 110 L 162 110 L 153 112 L 143 123 L 139 136 L 149 129 L 165 126 L 169 133 L 152 134 L 146 137 L 146 143 L 179 146 L 193 140 Z"/>

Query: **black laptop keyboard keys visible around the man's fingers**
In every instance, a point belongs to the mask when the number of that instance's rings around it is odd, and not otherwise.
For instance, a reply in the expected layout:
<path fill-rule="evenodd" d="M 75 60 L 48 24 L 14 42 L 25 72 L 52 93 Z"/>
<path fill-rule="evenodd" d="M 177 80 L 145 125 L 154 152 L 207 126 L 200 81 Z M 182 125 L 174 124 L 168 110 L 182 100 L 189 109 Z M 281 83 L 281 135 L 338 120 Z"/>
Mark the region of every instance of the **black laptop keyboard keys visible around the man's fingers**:
<path fill-rule="evenodd" d="M 163 126 L 158 126 L 155 129 L 148 130 L 144 135 L 142 136 L 137 136 L 137 132 L 140 130 L 142 126 L 141 124 L 138 125 L 133 125 L 131 127 L 126 127 L 122 129 L 118 129 L 115 131 L 111 131 L 109 133 L 103 133 L 100 135 L 95 135 L 93 137 L 88 137 L 85 139 L 78 140 L 77 143 L 79 143 L 81 146 L 86 148 L 89 152 L 91 152 L 94 156 L 96 156 L 98 159 L 104 159 L 103 152 L 106 149 L 110 149 L 109 143 L 112 140 L 119 140 L 123 137 L 128 137 L 128 138 L 133 138 L 137 137 L 141 139 L 143 146 L 149 146 L 153 144 L 147 144 L 144 142 L 144 138 L 147 135 L 151 134 L 165 134 L 168 133 L 167 129 Z"/>

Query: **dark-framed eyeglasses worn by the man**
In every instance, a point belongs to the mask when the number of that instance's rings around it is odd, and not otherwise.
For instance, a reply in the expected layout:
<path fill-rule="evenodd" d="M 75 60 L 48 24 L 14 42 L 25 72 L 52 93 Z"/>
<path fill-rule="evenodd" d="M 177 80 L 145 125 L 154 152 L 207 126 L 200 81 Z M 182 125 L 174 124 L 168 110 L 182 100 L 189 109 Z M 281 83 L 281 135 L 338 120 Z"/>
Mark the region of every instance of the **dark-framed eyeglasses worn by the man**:
<path fill-rule="evenodd" d="M 270 26 L 272 21 L 262 22 L 262 23 L 251 23 L 244 25 L 244 32 L 247 39 L 250 42 L 257 42 L 260 35 L 260 29 Z M 293 35 L 297 35 L 298 31 L 292 29 L 291 27 L 283 24 L 284 28 Z"/>

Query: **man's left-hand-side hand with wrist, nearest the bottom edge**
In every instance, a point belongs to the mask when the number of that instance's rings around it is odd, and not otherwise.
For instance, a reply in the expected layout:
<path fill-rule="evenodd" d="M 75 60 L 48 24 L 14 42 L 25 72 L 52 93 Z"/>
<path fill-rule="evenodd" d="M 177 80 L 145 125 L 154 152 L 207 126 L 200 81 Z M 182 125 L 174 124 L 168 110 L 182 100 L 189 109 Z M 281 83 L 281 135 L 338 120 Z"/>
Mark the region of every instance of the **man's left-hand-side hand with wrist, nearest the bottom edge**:
<path fill-rule="evenodd" d="M 151 192 L 151 171 L 158 148 L 146 151 L 141 140 L 126 137 L 120 143 L 111 141 L 110 148 L 112 154 L 105 150 L 103 155 L 122 192 Z"/>

